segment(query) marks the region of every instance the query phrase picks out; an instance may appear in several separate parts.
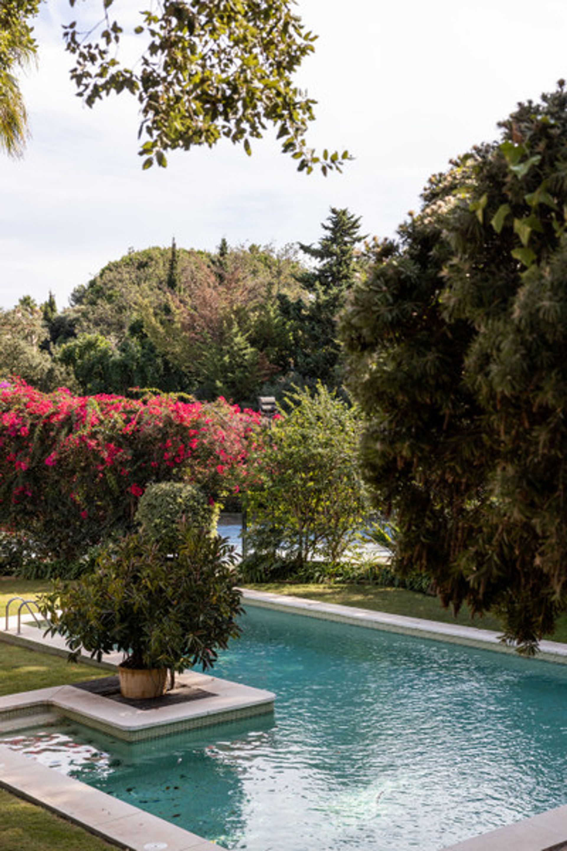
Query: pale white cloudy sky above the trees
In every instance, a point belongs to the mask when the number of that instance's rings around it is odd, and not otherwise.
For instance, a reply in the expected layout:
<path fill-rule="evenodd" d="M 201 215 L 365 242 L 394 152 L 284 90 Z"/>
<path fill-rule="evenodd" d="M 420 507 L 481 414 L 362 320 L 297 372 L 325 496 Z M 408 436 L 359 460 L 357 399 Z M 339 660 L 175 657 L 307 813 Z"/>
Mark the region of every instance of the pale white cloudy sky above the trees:
<path fill-rule="evenodd" d="M 146 8 L 122 0 L 117 11 L 124 3 Z M 565 0 L 298 0 L 297 11 L 319 34 L 298 80 L 319 102 L 308 141 L 348 148 L 356 159 L 342 175 L 298 174 L 273 136 L 252 157 L 221 142 L 142 172 L 136 104 L 122 94 L 82 106 L 60 40 L 75 13 L 47 0 L 39 70 L 22 83 L 32 139 L 23 160 L 0 155 L 0 306 L 51 289 L 64 307 L 128 248 L 172 237 L 183 248 L 315 243 L 331 206 L 391 236 L 429 174 L 567 77 Z"/>

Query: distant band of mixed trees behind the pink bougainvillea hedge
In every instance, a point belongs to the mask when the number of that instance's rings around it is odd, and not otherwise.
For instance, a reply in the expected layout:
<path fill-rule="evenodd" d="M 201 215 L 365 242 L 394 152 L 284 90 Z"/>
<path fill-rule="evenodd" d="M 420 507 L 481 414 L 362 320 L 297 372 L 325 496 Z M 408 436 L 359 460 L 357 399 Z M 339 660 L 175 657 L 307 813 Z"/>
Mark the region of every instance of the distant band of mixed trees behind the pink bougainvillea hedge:
<path fill-rule="evenodd" d="M 23 297 L 0 311 L 0 377 L 43 391 L 86 395 L 133 388 L 219 396 L 254 407 L 292 386 L 338 388 L 337 311 L 366 254 L 354 251 L 359 220 L 332 208 L 305 266 L 296 245 L 128 250 L 71 294 L 58 311 Z M 301 244 L 301 243 L 300 243 Z M 363 262 L 364 260 L 364 262 Z"/>

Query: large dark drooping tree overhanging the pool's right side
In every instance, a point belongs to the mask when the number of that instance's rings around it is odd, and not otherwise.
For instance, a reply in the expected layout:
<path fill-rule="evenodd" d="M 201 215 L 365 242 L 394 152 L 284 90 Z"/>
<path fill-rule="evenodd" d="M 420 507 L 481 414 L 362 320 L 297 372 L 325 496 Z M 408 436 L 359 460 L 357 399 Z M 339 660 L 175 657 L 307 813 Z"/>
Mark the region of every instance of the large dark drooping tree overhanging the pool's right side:
<path fill-rule="evenodd" d="M 435 175 L 344 317 L 397 564 L 530 651 L 567 604 L 567 94 Z"/>

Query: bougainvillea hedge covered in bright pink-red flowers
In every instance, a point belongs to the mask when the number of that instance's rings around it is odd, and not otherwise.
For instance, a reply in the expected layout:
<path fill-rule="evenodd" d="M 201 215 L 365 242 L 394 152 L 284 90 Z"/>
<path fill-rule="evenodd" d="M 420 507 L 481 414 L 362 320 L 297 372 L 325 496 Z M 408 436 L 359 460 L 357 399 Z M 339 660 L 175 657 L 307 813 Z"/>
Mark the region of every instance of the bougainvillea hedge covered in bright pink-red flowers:
<path fill-rule="evenodd" d="M 218 399 L 43 393 L 0 382 L 0 527 L 72 562 L 133 528 L 148 483 L 188 481 L 210 500 L 250 475 L 259 415 Z"/>

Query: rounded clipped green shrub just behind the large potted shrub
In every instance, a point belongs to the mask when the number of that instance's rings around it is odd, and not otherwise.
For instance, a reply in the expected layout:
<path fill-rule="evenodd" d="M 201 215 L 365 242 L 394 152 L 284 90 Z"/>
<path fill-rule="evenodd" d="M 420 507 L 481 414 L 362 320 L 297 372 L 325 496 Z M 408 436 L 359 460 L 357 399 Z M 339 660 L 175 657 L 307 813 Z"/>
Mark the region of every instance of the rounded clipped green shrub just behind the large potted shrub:
<path fill-rule="evenodd" d="M 210 504 L 200 488 L 183 482 L 150 484 L 138 504 L 135 518 L 150 540 L 168 551 L 179 542 L 180 529 L 217 528 L 218 504 Z"/>

